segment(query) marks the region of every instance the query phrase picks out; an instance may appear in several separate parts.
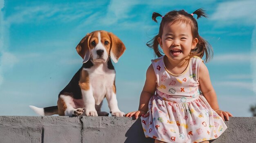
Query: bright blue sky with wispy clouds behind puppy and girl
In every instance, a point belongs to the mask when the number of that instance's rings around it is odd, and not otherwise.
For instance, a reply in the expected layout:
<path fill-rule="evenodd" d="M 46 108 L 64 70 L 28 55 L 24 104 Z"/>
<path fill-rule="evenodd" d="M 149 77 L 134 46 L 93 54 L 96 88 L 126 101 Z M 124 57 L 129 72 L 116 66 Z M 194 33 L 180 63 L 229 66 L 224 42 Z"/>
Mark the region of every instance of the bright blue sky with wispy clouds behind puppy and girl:
<path fill-rule="evenodd" d="M 154 59 L 146 46 L 159 29 L 153 12 L 164 15 L 201 7 L 199 33 L 213 47 L 206 63 L 219 106 L 250 117 L 256 104 L 255 0 L 0 0 L 0 115 L 36 115 L 28 107 L 55 106 L 58 93 L 82 65 L 75 47 L 94 30 L 117 35 L 126 51 L 114 64 L 121 111 L 135 111 Z M 160 21 L 160 19 L 159 19 Z M 109 112 L 106 100 L 103 111 Z"/>

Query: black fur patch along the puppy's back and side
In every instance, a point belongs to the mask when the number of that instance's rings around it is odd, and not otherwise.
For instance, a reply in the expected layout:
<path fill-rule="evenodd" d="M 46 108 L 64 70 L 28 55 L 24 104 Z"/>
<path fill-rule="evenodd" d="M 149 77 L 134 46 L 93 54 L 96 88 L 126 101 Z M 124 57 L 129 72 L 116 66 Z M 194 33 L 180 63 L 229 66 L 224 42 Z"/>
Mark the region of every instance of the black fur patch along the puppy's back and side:
<path fill-rule="evenodd" d="M 58 97 L 60 97 L 60 95 L 67 95 L 67 96 L 71 96 L 74 99 L 82 99 L 82 92 L 79 86 L 80 73 L 83 68 L 88 69 L 92 66 L 93 66 L 93 63 L 91 60 L 88 60 L 86 63 L 83 63 L 83 66 L 76 72 L 76 74 L 67 84 L 67 86 L 59 93 Z"/>

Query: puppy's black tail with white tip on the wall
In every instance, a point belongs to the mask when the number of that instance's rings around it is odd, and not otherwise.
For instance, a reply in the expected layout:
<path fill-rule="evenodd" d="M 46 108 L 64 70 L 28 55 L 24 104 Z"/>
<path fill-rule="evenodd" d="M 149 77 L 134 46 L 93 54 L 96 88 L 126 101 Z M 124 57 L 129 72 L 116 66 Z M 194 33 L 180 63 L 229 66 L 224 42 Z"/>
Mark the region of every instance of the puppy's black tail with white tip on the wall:
<path fill-rule="evenodd" d="M 29 106 L 37 115 L 40 116 L 50 116 L 54 114 L 58 114 L 58 106 L 51 106 L 45 108 L 38 108 L 36 106 Z"/>

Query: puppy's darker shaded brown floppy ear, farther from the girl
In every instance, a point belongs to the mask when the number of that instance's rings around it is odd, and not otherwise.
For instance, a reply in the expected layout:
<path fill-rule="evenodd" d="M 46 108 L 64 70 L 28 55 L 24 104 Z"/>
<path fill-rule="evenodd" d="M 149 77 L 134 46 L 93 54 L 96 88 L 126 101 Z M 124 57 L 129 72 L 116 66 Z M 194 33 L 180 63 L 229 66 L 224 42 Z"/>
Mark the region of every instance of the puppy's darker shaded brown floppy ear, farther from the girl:
<path fill-rule="evenodd" d="M 76 46 L 77 53 L 83 58 L 83 63 L 86 63 L 90 59 L 90 41 L 91 35 L 88 33 L 83 39 L 80 41 L 80 43 Z"/>

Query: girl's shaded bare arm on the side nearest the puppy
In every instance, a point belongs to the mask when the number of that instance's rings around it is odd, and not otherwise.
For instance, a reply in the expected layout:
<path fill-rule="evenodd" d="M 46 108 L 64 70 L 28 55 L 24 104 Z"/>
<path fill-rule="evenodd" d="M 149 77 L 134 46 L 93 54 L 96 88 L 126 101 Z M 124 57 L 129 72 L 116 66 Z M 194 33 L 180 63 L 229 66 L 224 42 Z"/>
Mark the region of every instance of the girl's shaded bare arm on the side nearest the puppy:
<path fill-rule="evenodd" d="M 130 112 L 127 113 L 125 116 L 126 117 L 132 117 L 135 115 L 135 118 L 137 119 L 138 116 L 145 115 L 148 111 L 148 102 L 153 94 L 155 94 L 156 90 L 156 81 L 157 78 L 155 76 L 155 71 L 153 69 L 153 65 L 151 64 L 148 67 L 148 70 L 146 72 L 146 81 L 144 88 L 141 92 L 140 95 L 140 100 L 139 100 L 139 109 L 138 111 Z M 147 113 L 148 114 L 148 113 Z M 147 115 L 145 115 L 147 116 Z"/>

